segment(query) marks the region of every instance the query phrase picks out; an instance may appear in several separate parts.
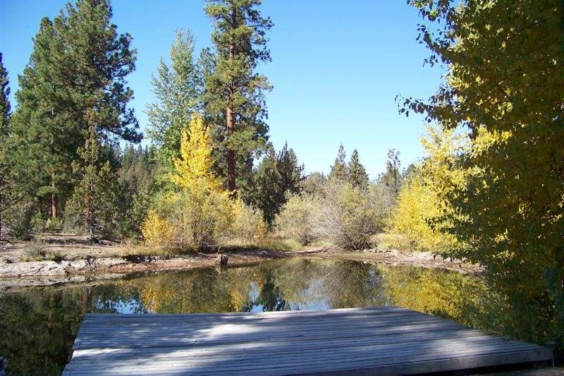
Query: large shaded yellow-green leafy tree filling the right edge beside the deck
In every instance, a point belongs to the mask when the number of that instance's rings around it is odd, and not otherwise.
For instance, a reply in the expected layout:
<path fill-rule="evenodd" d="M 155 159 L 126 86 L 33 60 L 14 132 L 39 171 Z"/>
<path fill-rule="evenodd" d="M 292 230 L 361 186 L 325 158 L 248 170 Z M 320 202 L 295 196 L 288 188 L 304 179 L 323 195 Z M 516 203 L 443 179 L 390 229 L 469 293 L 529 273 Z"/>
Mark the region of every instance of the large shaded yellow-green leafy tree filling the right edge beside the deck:
<path fill-rule="evenodd" d="M 471 145 L 445 181 L 455 210 L 439 222 L 466 247 L 446 251 L 482 263 L 524 312 L 551 317 L 564 337 L 564 4 L 558 0 L 413 0 L 425 22 L 427 62 L 445 82 L 428 102 L 406 99 L 444 128 L 466 126 Z"/>

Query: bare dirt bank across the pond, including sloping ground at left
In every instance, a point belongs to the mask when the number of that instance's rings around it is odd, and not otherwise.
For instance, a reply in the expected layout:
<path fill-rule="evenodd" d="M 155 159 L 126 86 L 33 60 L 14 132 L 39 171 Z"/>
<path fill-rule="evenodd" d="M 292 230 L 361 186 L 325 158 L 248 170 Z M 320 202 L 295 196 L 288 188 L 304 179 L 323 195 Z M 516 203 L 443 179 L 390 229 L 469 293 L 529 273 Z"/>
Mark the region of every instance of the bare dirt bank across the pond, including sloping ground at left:
<path fill-rule="evenodd" d="M 66 282 L 81 282 L 96 279 L 112 279 L 135 272 L 158 272 L 185 270 L 198 267 L 219 267 L 218 253 L 189 253 L 186 255 L 150 254 L 142 248 L 132 252 L 119 243 L 85 242 L 77 236 L 42 236 L 34 243 L 0 245 L 0 291 L 22 286 L 47 286 Z M 35 247 L 35 248 L 34 248 Z M 30 254 L 40 248 L 44 257 L 56 260 L 26 261 Z M 30 252 L 30 249 L 35 251 Z M 149 253 L 149 254 L 147 254 Z M 381 262 L 386 265 L 413 265 L 449 269 L 462 273 L 479 272 L 477 265 L 450 262 L 424 252 L 402 252 L 398 250 L 366 250 L 347 252 L 327 248 L 304 250 L 222 250 L 228 255 L 228 265 L 248 265 L 256 262 L 286 257 L 320 257 L 362 262 Z"/>

